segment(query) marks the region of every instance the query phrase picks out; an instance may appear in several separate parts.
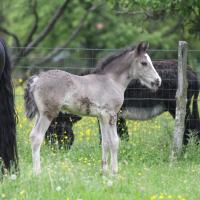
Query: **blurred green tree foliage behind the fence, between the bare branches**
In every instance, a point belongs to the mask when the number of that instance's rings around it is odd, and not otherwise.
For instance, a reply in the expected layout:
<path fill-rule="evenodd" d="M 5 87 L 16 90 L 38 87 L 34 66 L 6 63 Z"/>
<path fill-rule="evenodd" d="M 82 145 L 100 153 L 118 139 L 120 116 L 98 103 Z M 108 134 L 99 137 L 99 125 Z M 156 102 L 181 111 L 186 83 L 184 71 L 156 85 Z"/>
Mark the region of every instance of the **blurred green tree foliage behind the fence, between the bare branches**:
<path fill-rule="evenodd" d="M 7 27 L 10 32 L 15 33 L 22 46 L 34 24 L 30 2 L 34 0 L 3 1 L 0 8 L 2 19 L 0 27 Z M 44 30 L 55 10 L 62 3 L 62 0 L 51 1 L 51 3 L 47 0 L 38 1 L 39 22 L 33 40 Z M 70 1 L 54 28 L 39 43 L 38 46 L 43 49 L 32 51 L 32 57 L 47 55 L 51 49 L 44 49 L 44 47 L 62 46 L 92 5 L 97 5 L 97 9 L 87 16 L 80 33 L 67 47 L 123 48 L 142 40 L 148 40 L 150 48 L 153 49 L 177 49 L 179 40 L 188 41 L 190 49 L 198 49 L 200 46 L 198 0 L 73 0 Z M 15 45 L 11 37 L 6 39 L 11 46 Z M 29 60 L 31 54 L 21 62 L 26 65 L 32 64 L 32 60 Z M 85 54 L 82 56 L 100 57 L 89 55 L 87 52 Z M 176 52 L 168 51 L 154 52 L 152 55 L 154 59 L 177 58 Z M 195 66 L 200 60 L 197 54 L 193 54 L 189 59 Z"/>

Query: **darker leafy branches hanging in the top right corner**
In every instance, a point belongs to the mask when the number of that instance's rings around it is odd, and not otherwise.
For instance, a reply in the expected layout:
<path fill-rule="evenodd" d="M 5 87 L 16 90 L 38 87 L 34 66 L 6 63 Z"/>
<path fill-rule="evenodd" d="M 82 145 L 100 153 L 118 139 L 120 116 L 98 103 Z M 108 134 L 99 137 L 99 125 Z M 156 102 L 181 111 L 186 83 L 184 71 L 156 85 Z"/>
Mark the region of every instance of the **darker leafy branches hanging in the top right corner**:
<path fill-rule="evenodd" d="M 185 32 L 188 31 L 189 34 L 196 38 L 200 36 L 199 0 L 111 0 L 110 2 L 113 3 L 114 8 L 117 10 L 130 13 L 142 11 L 144 16 L 146 15 L 154 20 L 174 17 L 181 18 L 182 28 L 184 28 Z"/>

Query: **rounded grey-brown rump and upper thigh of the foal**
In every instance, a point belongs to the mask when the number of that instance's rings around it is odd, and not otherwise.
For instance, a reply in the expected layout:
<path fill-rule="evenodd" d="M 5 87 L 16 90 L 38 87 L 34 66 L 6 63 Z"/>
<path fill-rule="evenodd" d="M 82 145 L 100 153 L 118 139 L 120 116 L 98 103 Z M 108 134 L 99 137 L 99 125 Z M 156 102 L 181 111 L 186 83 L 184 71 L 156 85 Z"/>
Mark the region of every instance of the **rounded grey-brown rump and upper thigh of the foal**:
<path fill-rule="evenodd" d="M 65 71 L 49 70 L 39 74 L 32 88 L 38 110 L 48 112 L 49 118 L 56 117 L 64 102 L 64 94 L 72 85 L 71 74 Z"/>

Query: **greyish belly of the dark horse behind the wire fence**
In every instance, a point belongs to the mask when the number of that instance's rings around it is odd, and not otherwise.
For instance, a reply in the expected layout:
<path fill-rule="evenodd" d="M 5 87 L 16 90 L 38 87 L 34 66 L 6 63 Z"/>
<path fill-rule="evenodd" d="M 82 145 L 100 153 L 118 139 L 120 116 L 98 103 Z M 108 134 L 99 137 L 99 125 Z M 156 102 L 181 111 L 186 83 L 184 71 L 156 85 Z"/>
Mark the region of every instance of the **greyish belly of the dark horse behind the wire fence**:
<path fill-rule="evenodd" d="M 160 115 L 165 111 L 165 106 L 162 104 L 146 108 L 126 107 L 123 108 L 122 112 L 120 113 L 120 116 L 127 119 L 147 120 L 157 115 Z"/>

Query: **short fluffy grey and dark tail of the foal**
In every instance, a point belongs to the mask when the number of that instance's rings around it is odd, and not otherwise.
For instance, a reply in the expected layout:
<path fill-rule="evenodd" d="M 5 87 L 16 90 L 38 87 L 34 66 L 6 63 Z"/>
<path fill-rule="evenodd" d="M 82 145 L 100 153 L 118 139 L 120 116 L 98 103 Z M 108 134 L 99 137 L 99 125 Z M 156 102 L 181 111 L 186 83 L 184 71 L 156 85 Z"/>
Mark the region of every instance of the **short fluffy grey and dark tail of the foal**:
<path fill-rule="evenodd" d="M 26 88 L 24 90 L 25 113 L 28 119 L 33 119 L 33 117 L 38 113 L 38 108 L 33 95 L 37 79 L 38 76 L 30 77 L 26 82 Z"/>

